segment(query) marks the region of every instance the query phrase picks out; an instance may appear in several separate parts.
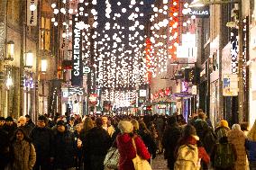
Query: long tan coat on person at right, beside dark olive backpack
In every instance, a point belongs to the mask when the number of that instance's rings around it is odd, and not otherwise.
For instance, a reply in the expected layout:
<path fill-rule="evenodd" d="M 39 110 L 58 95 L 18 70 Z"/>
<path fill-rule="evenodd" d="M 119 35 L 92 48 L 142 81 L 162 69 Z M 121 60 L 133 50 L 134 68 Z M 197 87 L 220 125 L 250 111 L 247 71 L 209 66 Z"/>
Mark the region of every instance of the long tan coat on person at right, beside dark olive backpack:
<path fill-rule="evenodd" d="M 227 133 L 227 138 L 230 143 L 233 144 L 237 160 L 235 161 L 235 169 L 236 170 L 244 170 L 246 169 L 246 150 L 245 150 L 245 135 L 242 130 L 230 130 Z"/>

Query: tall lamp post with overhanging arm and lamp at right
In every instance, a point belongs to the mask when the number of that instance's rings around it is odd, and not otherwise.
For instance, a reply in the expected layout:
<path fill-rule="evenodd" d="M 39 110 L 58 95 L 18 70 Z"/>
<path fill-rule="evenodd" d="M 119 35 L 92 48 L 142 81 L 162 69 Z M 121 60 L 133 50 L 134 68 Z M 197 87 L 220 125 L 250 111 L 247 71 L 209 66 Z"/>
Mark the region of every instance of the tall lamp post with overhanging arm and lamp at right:
<path fill-rule="evenodd" d="M 238 46 L 239 46 L 239 52 L 238 52 L 238 120 L 239 122 L 243 121 L 243 112 L 244 112 L 244 91 L 243 91 L 243 56 L 242 56 L 242 0 L 228 0 L 228 1 L 220 1 L 220 0 L 194 0 L 189 6 L 190 7 L 200 7 L 204 6 L 206 4 L 238 4 Z M 220 81 L 222 81 L 222 77 L 220 77 Z M 223 88 L 220 86 L 220 88 Z M 223 94 L 220 94 L 223 95 Z"/>

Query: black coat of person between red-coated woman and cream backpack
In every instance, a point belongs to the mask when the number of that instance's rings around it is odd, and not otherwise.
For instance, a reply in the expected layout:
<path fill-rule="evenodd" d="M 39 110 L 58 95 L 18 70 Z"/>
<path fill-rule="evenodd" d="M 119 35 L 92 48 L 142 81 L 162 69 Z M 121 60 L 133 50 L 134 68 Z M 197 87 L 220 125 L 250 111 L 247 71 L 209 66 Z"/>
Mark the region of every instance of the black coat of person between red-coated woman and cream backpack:
<path fill-rule="evenodd" d="M 175 162 L 174 151 L 181 136 L 181 128 L 177 123 L 168 125 L 163 132 L 162 146 L 165 149 L 164 157 L 170 162 Z"/>

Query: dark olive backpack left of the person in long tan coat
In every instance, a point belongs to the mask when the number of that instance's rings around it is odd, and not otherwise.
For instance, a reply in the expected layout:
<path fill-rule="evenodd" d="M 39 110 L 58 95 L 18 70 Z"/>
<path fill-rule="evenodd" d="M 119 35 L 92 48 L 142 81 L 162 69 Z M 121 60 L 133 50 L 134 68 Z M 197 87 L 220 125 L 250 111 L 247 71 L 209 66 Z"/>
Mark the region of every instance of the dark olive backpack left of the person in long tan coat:
<path fill-rule="evenodd" d="M 215 167 L 228 168 L 234 165 L 233 147 L 230 143 L 217 144 L 215 153 Z"/>

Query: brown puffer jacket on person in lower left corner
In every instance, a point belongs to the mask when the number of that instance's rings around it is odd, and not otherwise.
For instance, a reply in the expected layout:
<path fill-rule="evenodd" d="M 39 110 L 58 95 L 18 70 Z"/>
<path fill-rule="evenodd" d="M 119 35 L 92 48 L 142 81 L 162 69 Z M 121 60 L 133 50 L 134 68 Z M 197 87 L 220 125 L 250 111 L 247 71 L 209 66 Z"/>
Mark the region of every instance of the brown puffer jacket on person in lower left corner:
<path fill-rule="evenodd" d="M 32 170 L 36 161 L 36 153 L 32 143 L 15 140 L 12 144 L 14 160 L 12 170 Z"/>

